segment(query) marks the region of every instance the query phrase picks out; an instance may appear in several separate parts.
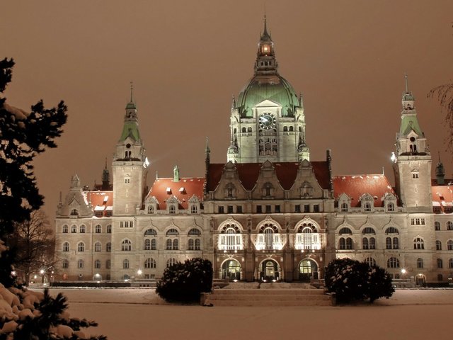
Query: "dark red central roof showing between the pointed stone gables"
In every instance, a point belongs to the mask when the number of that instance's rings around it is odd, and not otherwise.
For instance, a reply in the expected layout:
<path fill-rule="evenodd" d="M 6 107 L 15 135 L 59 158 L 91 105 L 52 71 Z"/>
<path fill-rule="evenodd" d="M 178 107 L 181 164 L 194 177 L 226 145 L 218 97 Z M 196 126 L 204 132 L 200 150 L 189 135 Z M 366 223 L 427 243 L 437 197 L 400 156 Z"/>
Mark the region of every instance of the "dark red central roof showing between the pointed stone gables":
<path fill-rule="evenodd" d="M 247 191 L 251 191 L 258 180 L 261 163 L 239 163 L 234 164 L 236 167 L 239 180 Z M 208 171 L 208 191 L 214 191 L 217 188 L 225 164 L 210 164 Z M 295 162 L 278 162 L 273 163 L 277 179 L 283 189 L 289 190 L 296 180 L 299 163 Z M 323 189 L 329 188 L 328 162 L 311 162 L 314 174 L 319 185 Z"/>

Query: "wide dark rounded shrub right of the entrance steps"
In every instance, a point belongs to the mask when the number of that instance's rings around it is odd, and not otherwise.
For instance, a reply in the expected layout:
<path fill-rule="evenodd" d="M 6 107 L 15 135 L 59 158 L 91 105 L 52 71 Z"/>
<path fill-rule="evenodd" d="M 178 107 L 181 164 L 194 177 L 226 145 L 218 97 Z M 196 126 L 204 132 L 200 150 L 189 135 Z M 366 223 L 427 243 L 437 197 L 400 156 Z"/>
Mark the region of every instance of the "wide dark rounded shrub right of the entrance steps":
<path fill-rule="evenodd" d="M 326 268 L 326 287 L 336 293 L 341 303 L 379 297 L 389 298 L 394 293 L 389 274 L 379 266 L 351 259 L 335 259 Z"/>

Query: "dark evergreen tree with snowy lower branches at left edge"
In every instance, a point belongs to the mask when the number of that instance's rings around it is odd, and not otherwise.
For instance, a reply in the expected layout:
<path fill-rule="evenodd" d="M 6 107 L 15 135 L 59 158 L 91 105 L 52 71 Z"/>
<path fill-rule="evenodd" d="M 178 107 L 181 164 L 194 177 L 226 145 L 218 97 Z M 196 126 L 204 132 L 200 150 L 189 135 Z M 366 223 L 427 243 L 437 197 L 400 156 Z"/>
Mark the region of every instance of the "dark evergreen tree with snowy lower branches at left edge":
<path fill-rule="evenodd" d="M 28 113 L 9 106 L 3 93 L 13 66 L 12 59 L 0 60 L 0 340 L 88 339 L 80 329 L 96 323 L 71 319 L 63 295 L 54 298 L 48 290 L 42 294 L 14 286 L 15 256 L 8 240 L 13 239 L 14 227 L 30 220 L 43 203 L 31 161 L 45 147 L 57 146 L 67 107 L 61 101 L 45 108 L 39 101 Z"/>

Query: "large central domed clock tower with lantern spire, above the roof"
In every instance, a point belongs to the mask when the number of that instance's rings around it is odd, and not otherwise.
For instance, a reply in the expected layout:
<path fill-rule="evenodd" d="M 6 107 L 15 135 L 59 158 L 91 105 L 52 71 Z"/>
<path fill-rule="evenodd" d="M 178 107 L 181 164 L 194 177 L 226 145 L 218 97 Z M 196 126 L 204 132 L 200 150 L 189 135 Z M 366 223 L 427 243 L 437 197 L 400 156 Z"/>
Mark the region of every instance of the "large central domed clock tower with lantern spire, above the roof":
<path fill-rule="evenodd" d="M 300 162 L 309 160 L 305 142 L 302 96 L 278 73 L 274 42 L 266 18 L 258 42 L 255 74 L 237 101 L 233 98 L 230 146 L 234 163 Z"/>

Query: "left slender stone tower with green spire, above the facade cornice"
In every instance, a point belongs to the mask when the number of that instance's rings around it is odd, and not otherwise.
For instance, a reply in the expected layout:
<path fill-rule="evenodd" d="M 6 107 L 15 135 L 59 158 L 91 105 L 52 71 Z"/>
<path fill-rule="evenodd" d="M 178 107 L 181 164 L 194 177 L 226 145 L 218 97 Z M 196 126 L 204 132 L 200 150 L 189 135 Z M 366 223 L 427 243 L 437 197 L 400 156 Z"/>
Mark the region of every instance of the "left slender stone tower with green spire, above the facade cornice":
<path fill-rule="evenodd" d="M 126 105 L 124 125 L 113 155 L 113 214 L 135 215 L 146 194 L 148 159 L 139 133 L 137 106 Z"/>

